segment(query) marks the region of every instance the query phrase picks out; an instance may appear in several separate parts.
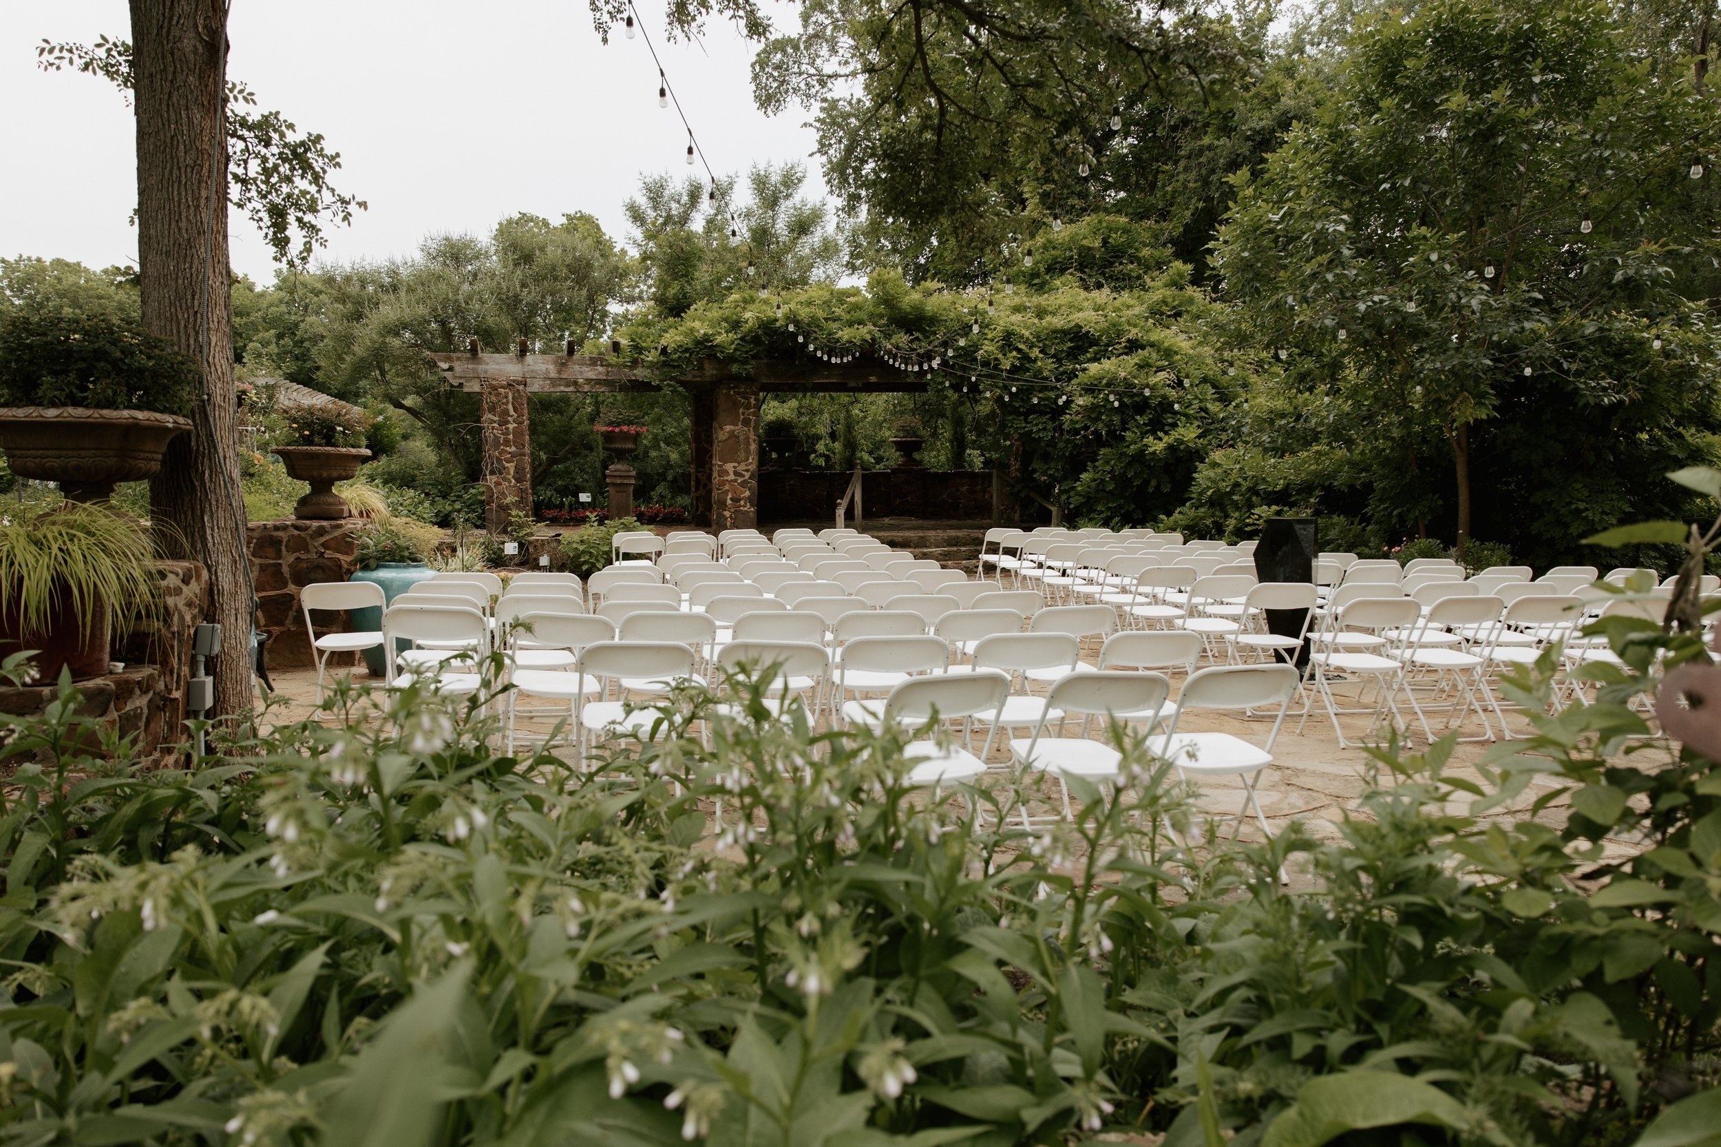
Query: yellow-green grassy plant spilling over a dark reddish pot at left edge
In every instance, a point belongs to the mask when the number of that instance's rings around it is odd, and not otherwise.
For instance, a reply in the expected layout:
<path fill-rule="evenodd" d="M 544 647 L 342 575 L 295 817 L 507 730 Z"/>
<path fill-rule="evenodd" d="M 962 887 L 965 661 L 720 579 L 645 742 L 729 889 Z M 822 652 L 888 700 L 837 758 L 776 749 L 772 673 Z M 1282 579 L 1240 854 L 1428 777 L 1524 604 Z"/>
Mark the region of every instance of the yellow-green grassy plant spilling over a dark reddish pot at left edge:
<path fill-rule="evenodd" d="M 38 650 L 38 681 L 105 674 L 114 623 L 160 595 L 150 531 L 133 518 L 81 502 L 0 518 L 0 659 Z"/>

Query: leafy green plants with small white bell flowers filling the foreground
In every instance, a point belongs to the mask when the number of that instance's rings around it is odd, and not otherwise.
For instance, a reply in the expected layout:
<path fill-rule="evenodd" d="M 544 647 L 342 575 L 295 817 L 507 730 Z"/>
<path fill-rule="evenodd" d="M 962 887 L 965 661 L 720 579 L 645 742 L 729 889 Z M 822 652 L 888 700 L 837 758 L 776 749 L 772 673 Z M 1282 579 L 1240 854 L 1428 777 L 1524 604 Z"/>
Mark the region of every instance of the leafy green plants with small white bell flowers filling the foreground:
<path fill-rule="evenodd" d="M 487 748 L 485 693 L 342 688 L 367 721 L 141 772 L 67 688 L 0 717 L 3 1133 L 1625 1144 L 1716 1083 L 1721 772 L 1632 707 L 1697 638 L 1606 629 L 1595 705 L 1475 770 L 1380 751 L 1335 839 L 1265 846 L 1127 739 L 1027 834 L 1019 784 L 910 789 L 910 731 L 780 722 L 762 679 L 580 769 Z M 1501 817 L 1532 784 L 1563 827 Z"/>

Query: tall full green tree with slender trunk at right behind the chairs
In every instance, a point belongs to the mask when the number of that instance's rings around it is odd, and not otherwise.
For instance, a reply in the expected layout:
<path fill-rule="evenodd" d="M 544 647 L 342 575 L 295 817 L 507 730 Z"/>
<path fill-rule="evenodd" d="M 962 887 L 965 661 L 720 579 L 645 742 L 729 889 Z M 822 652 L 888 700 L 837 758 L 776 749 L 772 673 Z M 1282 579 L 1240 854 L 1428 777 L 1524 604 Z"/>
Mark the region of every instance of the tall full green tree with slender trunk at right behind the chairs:
<path fill-rule="evenodd" d="M 1623 490 L 1716 425 L 1692 291 L 1721 255 L 1702 213 L 1721 117 L 1621 31 L 1588 0 L 1365 17 L 1330 101 L 1239 179 L 1220 232 L 1251 337 L 1404 442 L 1404 468 L 1449 459 L 1432 473 L 1459 543 L 1478 494 L 1575 537 L 1623 518 Z M 1580 499 L 1547 497 L 1561 471 Z"/>

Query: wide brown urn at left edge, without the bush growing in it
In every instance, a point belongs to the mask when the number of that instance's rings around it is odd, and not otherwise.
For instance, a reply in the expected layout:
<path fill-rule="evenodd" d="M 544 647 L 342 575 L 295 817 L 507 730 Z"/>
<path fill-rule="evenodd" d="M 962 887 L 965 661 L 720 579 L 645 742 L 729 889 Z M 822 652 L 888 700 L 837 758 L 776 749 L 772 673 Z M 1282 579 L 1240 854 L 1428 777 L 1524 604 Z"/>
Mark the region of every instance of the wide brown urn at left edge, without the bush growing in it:
<path fill-rule="evenodd" d="M 74 502 L 100 502 L 119 481 L 153 478 L 167 444 L 188 430 L 189 420 L 155 411 L 0 408 L 0 449 L 12 473 L 59 481 Z"/>

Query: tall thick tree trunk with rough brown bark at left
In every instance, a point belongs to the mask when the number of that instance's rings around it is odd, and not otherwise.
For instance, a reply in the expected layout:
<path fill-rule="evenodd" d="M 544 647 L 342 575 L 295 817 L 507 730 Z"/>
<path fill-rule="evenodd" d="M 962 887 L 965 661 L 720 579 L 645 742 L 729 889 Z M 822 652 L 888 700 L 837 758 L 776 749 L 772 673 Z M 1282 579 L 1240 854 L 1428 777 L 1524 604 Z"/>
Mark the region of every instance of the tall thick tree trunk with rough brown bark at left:
<path fill-rule="evenodd" d="M 215 714 L 251 712 L 255 605 L 239 492 L 227 270 L 225 0 L 131 0 L 143 325 L 203 365 L 191 433 L 150 483 L 169 554 L 203 562 L 222 626 Z"/>

